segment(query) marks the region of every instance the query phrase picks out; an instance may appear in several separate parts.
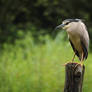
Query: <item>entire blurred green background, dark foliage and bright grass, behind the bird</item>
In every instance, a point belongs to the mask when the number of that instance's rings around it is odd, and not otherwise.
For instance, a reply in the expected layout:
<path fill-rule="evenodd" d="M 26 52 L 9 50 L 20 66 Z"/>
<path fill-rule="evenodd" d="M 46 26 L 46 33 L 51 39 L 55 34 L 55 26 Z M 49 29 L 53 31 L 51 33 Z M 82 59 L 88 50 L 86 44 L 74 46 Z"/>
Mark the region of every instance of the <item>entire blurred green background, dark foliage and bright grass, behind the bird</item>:
<path fill-rule="evenodd" d="M 0 0 L 0 92 L 63 92 L 62 64 L 73 51 L 66 34 L 53 30 L 66 18 L 84 19 L 91 43 L 91 10 L 89 0 Z M 91 57 L 85 92 L 92 92 Z"/>

